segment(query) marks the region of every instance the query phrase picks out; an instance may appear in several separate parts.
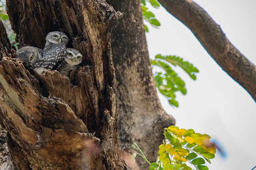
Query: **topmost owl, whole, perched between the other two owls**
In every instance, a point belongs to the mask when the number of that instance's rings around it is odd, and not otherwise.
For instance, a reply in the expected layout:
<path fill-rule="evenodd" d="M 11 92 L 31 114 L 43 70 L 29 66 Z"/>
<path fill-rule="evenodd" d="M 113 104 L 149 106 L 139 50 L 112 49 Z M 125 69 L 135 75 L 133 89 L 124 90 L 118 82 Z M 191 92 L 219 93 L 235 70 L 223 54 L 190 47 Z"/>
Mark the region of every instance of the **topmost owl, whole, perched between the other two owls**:
<path fill-rule="evenodd" d="M 50 69 L 61 61 L 65 55 L 66 44 L 68 43 L 68 36 L 60 31 L 53 31 L 46 35 L 46 44 L 43 49 L 44 62 L 43 68 Z"/>

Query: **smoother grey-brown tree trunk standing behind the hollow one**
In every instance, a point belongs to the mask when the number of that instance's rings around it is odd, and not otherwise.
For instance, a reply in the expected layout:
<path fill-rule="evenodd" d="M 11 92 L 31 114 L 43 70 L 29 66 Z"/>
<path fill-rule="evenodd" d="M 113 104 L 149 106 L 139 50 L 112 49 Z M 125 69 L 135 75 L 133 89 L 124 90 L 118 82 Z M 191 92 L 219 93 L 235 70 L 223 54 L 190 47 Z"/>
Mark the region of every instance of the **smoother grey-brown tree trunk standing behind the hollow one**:
<path fill-rule="evenodd" d="M 136 142 L 150 162 L 156 161 L 163 129 L 175 120 L 162 109 L 154 84 L 148 55 L 140 0 L 107 0 L 124 12 L 112 32 L 112 54 L 116 68 L 120 146 L 130 154 Z M 138 159 L 136 159 L 138 160 Z M 144 160 L 138 162 L 147 169 Z"/>

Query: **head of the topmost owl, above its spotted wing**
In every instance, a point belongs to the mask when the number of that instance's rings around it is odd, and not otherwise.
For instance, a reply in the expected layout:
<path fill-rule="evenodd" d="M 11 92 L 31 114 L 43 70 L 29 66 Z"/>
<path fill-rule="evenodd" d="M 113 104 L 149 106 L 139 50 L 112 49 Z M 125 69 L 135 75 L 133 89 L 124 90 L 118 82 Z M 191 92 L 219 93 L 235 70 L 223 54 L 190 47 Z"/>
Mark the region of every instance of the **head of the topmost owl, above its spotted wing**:
<path fill-rule="evenodd" d="M 64 43 L 65 45 L 68 44 L 68 36 L 60 31 L 53 31 L 46 35 L 46 44 L 53 43 Z"/>

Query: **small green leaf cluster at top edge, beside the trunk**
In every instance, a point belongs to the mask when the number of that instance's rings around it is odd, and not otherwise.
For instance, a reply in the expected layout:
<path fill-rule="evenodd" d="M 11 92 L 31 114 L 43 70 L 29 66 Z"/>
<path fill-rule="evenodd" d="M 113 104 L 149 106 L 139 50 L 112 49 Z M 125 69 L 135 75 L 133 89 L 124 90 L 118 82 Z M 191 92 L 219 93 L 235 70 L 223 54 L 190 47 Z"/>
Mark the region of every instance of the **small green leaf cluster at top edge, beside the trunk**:
<path fill-rule="evenodd" d="M 157 28 L 161 24 L 156 19 L 155 15 L 146 7 L 147 2 L 149 2 L 154 8 L 159 8 L 160 4 L 157 2 L 157 0 L 141 0 L 141 9 L 144 21 L 150 23 L 150 25 Z M 148 32 L 148 26 L 144 24 L 144 27 L 145 31 Z"/>

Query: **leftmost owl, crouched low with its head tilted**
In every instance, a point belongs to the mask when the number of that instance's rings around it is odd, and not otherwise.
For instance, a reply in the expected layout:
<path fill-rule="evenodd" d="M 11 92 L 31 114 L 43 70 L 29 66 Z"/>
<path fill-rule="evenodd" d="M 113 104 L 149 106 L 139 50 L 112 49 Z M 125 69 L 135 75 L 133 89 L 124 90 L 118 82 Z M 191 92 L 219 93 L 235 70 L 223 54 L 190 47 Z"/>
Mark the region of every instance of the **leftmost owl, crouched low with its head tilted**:
<path fill-rule="evenodd" d="M 27 69 L 40 67 L 43 63 L 42 49 L 31 46 L 22 47 L 17 51 L 17 58 Z"/>

